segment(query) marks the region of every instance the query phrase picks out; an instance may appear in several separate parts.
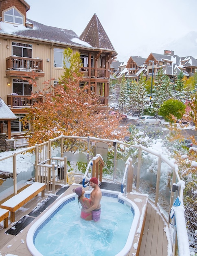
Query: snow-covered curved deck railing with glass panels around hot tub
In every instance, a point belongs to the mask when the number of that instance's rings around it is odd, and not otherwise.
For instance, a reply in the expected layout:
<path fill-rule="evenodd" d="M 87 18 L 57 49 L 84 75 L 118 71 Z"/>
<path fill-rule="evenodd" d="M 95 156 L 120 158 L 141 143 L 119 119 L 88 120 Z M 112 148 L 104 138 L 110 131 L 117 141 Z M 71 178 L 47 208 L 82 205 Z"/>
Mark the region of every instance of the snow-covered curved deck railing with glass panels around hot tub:
<path fill-rule="evenodd" d="M 77 149 L 73 150 L 74 153 L 72 152 L 72 150 L 69 151 L 69 149 L 67 150 L 64 149 L 64 148 L 69 148 L 67 147 L 67 146 L 70 146 L 68 141 L 72 145 L 72 147 L 73 146 L 76 147 L 76 145 L 80 145 L 79 153 L 81 155 L 76 152 Z M 132 190 L 133 184 L 136 187 L 136 191 L 142 191 L 143 193 L 143 189 L 144 191 L 147 191 L 148 189 L 148 191 L 150 191 L 149 199 L 151 199 L 154 202 L 155 207 L 159 206 L 160 209 L 164 210 L 162 212 L 163 216 L 164 218 L 166 218 L 166 220 L 168 220 L 171 207 L 173 206 L 173 203 L 175 201 L 175 192 L 172 189 L 173 184 L 177 185 L 178 191 L 176 192 L 176 194 L 178 193 L 180 200 L 181 201 L 183 200 L 184 182 L 180 180 L 179 169 L 177 165 L 173 164 L 173 162 L 170 159 L 168 159 L 165 155 L 163 155 L 157 150 L 146 148 L 142 145 L 127 144 L 123 141 L 118 141 L 118 140 L 101 139 L 96 137 L 75 137 L 75 136 L 61 135 L 57 138 L 50 139 L 49 141 L 46 141 L 39 145 L 32 146 L 28 149 L 18 150 L 17 152 L 14 152 L 12 155 L 9 155 L 8 157 L 0 158 L 0 166 L 2 166 L 1 163 L 6 159 L 9 159 L 8 161 L 11 162 L 11 165 L 12 165 L 12 167 L 10 166 L 9 173 L 12 174 L 11 177 L 13 177 L 13 183 L 11 185 L 10 184 L 7 185 L 8 182 L 10 182 L 9 181 L 10 179 L 7 179 L 6 181 L 4 181 L 4 183 L 6 184 L 5 189 L 7 189 L 9 186 L 10 187 L 13 186 L 12 193 L 14 193 L 14 195 L 17 194 L 17 180 L 19 177 L 18 172 L 20 170 L 20 163 L 21 163 L 21 158 L 23 158 L 23 154 L 32 153 L 33 155 L 32 157 L 33 160 L 31 160 L 32 161 L 31 164 L 35 167 L 35 169 L 34 169 L 34 176 L 32 177 L 32 179 L 35 179 L 36 182 L 53 184 L 57 182 L 57 179 L 55 179 L 55 176 L 54 176 L 55 166 L 58 166 L 58 163 L 60 161 L 63 161 L 65 156 L 67 156 L 67 160 L 65 161 L 69 161 L 69 162 L 81 161 L 82 164 L 80 166 L 84 166 L 84 164 L 87 164 L 88 166 L 88 163 L 92 160 L 91 156 L 93 157 L 95 153 L 97 155 L 96 144 L 98 142 L 103 142 L 104 144 L 107 145 L 107 157 L 105 156 L 104 158 L 103 155 L 102 154 L 101 155 L 103 159 L 105 159 L 103 160 L 103 162 L 105 162 L 105 166 L 107 166 L 107 168 L 109 169 L 109 173 L 112 173 L 110 174 L 112 176 L 111 180 L 113 180 L 114 182 L 120 182 L 120 184 L 122 180 L 122 189 L 126 192 L 129 192 L 129 189 Z M 65 144 L 66 144 L 66 147 L 65 147 Z M 58 149 L 57 150 L 58 154 L 56 153 L 56 155 L 53 156 L 52 151 L 54 150 L 55 147 L 57 147 Z M 128 158 L 127 153 L 129 152 L 130 148 L 132 153 L 130 153 Z M 79 155 L 78 158 L 77 158 L 77 154 Z M 125 156 L 127 156 L 126 162 L 125 162 Z M 17 161 L 17 157 L 19 158 L 18 161 Z M 83 158 L 83 160 L 81 160 L 82 159 L 81 157 Z M 134 163 L 130 161 L 130 158 L 133 159 Z M 151 163 L 146 162 L 147 159 L 149 161 L 154 162 L 154 169 L 152 172 L 150 171 L 149 173 L 147 172 L 147 166 L 148 165 L 151 166 Z M 131 168 L 131 166 L 134 168 L 134 175 L 132 174 L 132 171 L 129 171 L 129 168 Z M 73 167 L 71 166 L 71 168 Z M 7 168 L 6 166 L 5 172 L 8 172 L 8 169 L 9 168 Z M 168 170 L 168 172 L 166 172 L 166 169 Z M 44 170 L 44 175 L 46 175 L 46 177 L 42 174 L 43 170 Z M 148 177 L 146 176 L 147 173 L 149 175 Z M 172 176 L 171 176 L 171 173 L 173 174 Z M 164 177 L 169 178 L 168 184 L 166 184 L 166 182 L 164 181 L 162 183 L 162 179 L 164 180 Z M 60 179 L 60 181 L 58 182 L 64 183 L 65 180 Z M 1 185 L 1 189 L 4 183 Z M 126 190 L 124 189 L 125 183 L 126 183 Z M 48 189 L 49 188 L 47 186 L 47 190 Z M 160 193 L 160 191 L 162 192 Z M 165 201 L 165 204 L 160 205 L 160 200 L 159 200 L 160 198 Z M 184 222 L 184 218 L 182 218 L 182 222 Z M 178 220 L 177 225 L 183 225 L 183 223 L 179 223 L 179 220 Z M 182 237 L 181 237 L 181 234 L 179 234 L 179 229 L 177 229 L 177 237 L 178 237 L 178 243 L 179 244 L 182 243 L 181 246 L 187 247 L 186 243 L 182 242 Z M 181 249 L 181 250 L 185 251 L 185 249 Z"/>

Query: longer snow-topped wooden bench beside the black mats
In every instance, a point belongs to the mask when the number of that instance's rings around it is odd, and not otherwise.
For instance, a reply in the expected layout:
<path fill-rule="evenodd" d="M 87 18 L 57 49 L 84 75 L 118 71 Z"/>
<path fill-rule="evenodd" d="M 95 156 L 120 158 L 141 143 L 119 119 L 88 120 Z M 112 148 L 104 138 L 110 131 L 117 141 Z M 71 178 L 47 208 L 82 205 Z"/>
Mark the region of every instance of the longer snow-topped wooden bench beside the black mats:
<path fill-rule="evenodd" d="M 1 204 L 1 208 L 10 211 L 10 221 L 15 221 L 15 211 L 34 198 L 38 193 L 42 192 L 42 197 L 44 197 L 46 184 L 34 182 L 32 185 L 28 186 L 26 189 L 14 195 L 9 200 Z"/>

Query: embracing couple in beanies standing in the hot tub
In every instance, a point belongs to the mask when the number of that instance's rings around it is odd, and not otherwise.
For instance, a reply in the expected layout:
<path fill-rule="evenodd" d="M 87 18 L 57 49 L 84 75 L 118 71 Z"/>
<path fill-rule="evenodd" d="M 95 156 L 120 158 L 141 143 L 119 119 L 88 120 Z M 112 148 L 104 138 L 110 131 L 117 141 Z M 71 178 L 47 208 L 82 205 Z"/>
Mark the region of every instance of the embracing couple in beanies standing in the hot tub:
<path fill-rule="evenodd" d="M 90 199 L 85 198 L 84 193 L 85 190 L 82 187 L 78 187 L 74 189 L 78 195 L 78 200 L 82 206 L 81 208 L 81 218 L 84 220 L 94 220 L 99 221 L 101 216 L 101 198 L 102 193 L 101 189 L 99 188 L 99 182 L 96 177 L 90 179 L 90 186 L 92 187 L 92 192 L 90 193 Z"/>

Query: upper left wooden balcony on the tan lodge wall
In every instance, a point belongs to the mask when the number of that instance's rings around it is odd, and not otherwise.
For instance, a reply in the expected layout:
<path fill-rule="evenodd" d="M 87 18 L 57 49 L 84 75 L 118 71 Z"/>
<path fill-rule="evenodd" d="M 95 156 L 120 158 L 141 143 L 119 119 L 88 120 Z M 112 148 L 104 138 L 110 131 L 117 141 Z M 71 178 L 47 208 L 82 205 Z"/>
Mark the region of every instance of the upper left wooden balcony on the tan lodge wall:
<path fill-rule="evenodd" d="M 6 58 L 6 76 L 44 77 L 43 60 L 10 56 Z"/>

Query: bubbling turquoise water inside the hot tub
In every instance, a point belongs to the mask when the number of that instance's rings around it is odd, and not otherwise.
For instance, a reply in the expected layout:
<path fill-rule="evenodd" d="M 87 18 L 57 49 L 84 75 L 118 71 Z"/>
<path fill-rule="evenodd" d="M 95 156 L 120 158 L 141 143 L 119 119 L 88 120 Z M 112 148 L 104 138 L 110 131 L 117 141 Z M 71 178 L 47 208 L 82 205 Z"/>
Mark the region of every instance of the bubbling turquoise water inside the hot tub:
<path fill-rule="evenodd" d="M 101 220 L 80 218 L 78 200 L 69 202 L 39 231 L 36 249 L 44 256 L 114 256 L 120 252 L 133 221 L 131 207 L 103 197 Z"/>

